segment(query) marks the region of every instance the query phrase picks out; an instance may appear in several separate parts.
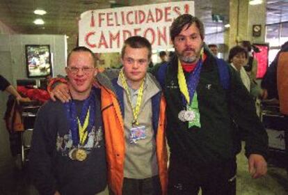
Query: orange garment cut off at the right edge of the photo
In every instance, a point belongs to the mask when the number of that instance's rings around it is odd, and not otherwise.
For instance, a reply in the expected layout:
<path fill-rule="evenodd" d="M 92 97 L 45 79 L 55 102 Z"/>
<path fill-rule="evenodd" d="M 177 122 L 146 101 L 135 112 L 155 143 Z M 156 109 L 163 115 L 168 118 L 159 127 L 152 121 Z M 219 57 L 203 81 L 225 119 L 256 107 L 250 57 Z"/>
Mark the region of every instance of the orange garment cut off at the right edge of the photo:
<path fill-rule="evenodd" d="M 288 115 L 288 52 L 280 53 L 278 59 L 277 88 L 280 112 Z"/>

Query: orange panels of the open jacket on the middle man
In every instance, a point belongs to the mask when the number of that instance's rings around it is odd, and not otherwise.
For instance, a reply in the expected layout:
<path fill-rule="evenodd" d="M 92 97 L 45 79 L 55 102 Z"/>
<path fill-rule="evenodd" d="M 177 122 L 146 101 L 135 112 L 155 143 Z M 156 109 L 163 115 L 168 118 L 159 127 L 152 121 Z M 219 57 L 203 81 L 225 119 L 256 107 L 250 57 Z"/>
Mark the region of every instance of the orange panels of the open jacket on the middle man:
<path fill-rule="evenodd" d="M 100 75 L 100 74 L 99 74 Z M 100 81 L 101 83 L 101 81 Z M 109 185 L 116 195 L 122 194 L 125 161 L 125 130 L 119 98 L 113 89 L 102 85 L 102 117 L 105 129 Z M 162 194 L 167 193 L 167 148 L 165 126 L 166 102 L 161 95 L 156 134 L 157 160 Z"/>

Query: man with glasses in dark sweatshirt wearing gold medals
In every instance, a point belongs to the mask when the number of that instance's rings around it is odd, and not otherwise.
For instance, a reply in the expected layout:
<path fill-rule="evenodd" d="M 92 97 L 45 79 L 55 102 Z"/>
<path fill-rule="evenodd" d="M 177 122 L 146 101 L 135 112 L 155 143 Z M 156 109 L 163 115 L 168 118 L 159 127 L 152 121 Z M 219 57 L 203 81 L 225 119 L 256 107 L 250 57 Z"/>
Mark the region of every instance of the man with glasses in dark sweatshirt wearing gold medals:
<path fill-rule="evenodd" d="M 49 101 L 38 111 L 31 175 L 40 194 L 101 194 L 107 183 L 106 155 L 93 52 L 74 48 L 66 73 L 72 100 Z"/>

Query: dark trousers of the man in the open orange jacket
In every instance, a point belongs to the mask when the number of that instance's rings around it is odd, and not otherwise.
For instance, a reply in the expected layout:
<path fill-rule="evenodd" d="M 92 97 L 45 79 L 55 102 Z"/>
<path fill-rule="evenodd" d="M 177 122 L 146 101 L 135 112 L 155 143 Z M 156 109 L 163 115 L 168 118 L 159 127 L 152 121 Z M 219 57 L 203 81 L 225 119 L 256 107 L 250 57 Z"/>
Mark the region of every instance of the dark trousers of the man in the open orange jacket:
<path fill-rule="evenodd" d="M 161 195 L 159 176 L 141 180 L 124 178 L 122 195 Z"/>

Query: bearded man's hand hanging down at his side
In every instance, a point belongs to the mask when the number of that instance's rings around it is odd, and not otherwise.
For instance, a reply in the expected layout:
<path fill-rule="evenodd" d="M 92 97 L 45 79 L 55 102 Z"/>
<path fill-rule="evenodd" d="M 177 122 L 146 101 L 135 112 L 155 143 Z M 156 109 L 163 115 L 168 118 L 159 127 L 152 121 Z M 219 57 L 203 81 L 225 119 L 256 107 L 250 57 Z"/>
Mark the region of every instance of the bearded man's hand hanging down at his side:
<path fill-rule="evenodd" d="M 251 154 L 248 159 L 249 173 L 252 178 L 260 178 L 266 175 L 267 163 L 262 155 Z"/>

